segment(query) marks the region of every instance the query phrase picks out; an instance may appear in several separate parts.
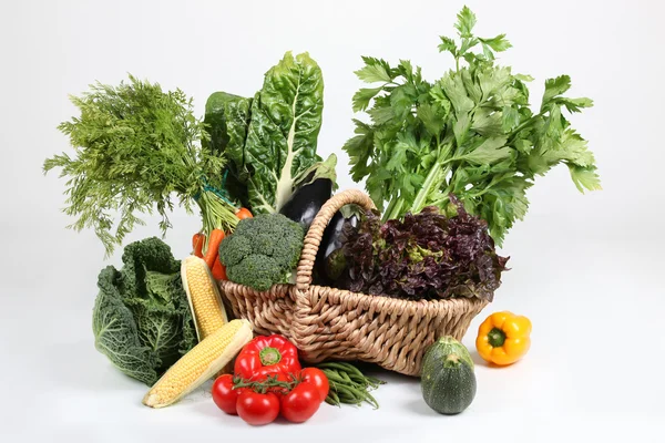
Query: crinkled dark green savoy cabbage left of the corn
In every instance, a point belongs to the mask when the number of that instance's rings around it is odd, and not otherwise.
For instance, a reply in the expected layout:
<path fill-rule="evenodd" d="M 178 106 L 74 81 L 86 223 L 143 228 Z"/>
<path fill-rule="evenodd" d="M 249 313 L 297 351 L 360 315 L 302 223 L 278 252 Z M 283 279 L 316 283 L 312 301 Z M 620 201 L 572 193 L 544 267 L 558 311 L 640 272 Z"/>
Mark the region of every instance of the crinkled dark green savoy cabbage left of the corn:
<path fill-rule="evenodd" d="M 196 344 L 180 261 L 156 237 L 126 246 L 121 270 L 102 269 L 92 328 L 96 349 L 145 384 Z"/>

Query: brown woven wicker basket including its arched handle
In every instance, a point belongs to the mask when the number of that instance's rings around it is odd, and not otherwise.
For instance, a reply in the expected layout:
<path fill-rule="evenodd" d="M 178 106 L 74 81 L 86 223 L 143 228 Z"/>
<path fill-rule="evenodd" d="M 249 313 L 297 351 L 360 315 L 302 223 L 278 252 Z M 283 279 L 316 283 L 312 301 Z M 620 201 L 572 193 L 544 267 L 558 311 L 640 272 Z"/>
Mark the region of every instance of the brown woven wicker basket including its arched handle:
<path fill-rule="evenodd" d="M 360 360 L 407 375 L 419 375 L 428 346 L 442 336 L 458 340 L 487 305 L 479 299 L 400 300 L 311 285 L 311 270 L 324 230 L 345 205 L 372 208 L 360 190 L 330 198 L 316 216 L 297 269 L 296 285 L 275 285 L 260 292 L 221 281 L 236 317 L 260 334 L 280 333 L 306 362 Z"/>

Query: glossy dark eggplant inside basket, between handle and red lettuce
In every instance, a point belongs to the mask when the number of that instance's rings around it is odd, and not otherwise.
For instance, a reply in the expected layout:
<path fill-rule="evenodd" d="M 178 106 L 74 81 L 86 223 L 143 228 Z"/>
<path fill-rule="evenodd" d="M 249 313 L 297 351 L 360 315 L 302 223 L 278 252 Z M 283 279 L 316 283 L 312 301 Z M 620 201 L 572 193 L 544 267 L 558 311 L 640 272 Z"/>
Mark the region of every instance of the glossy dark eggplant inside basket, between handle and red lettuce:
<path fill-rule="evenodd" d="M 344 246 L 342 233 L 346 225 L 358 226 L 358 217 L 354 214 L 345 218 L 341 212 L 338 210 L 330 219 L 326 230 L 324 230 L 314 265 L 321 285 L 332 285 L 346 271 L 346 257 L 341 250 Z"/>

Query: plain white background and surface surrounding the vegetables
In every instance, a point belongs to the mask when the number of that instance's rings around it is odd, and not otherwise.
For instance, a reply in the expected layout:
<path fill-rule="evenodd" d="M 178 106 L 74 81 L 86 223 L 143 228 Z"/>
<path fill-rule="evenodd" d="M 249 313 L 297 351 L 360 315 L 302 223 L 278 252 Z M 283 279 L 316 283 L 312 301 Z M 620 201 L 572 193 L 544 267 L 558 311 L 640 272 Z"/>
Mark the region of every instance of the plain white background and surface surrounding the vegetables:
<path fill-rule="evenodd" d="M 207 3 L 7 1 L 0 6 L 0 440 L 14 441 L 663 441 L 665 311 L 663 42 L 658 1 L 469 1 L 477 31 L 508 33 L 501 63 L 529 73 L 533 104 L 545 78 L 567 73 L 595 107 L 573 116 L 596 154 L 604 190 L 579 194 L 561 167 L 530 190 L 525 222 L 503 253 L 512 270 L 472 323 L 509 309 L 534 324 L 519 364 L 478 361 L 478 394 L 457 416 L 421 401 L 417 380 L 379 373 L 381 409 L 324 408 L 304 425 L 252 429 L 198 391 L 150 410 L 146 387 L 94 350 L 91 309 L 103 261 L 90 231 L 64 228 L 64 183 L 41 163 L 69 150 L 55 126 L 66 95 L 131 72 L 181 87 L 203 113 L 208 94 L 250 95 L 287 50 L 309 51 L 326 83 L 319 152 L 351 136 L 360 55 L 410 59 L 434 80 L 458 1 Z M 157 233 L 156 219 L 130 240 Z M 166 240 L 188 253 L 197 216 L 177 212 Z"/>

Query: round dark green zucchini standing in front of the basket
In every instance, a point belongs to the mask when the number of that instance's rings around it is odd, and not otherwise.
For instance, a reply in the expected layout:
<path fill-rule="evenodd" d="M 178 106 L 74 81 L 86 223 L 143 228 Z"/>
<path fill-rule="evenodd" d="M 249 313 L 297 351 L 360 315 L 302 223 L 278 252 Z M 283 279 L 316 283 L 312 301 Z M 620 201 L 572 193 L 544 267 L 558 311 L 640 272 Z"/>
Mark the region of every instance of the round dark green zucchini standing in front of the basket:
<path fill-rule="evenodd" d="M 443 337 L 426 352 L 420 380 L 424 402 L 441 414 L 459 414 L 475 396 L 473 360 L 467 348 Z"/>

